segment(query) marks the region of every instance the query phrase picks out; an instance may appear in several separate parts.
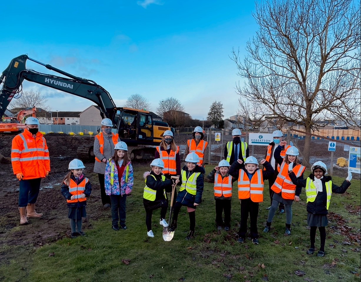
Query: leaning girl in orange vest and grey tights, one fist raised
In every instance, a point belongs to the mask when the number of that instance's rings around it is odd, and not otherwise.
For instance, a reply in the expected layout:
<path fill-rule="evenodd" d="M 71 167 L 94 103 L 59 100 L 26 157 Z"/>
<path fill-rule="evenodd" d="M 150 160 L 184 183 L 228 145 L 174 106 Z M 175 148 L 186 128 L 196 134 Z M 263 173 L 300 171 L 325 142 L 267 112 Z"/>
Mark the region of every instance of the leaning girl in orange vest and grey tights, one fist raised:
<path fill-rule="evenodd" d="M 271 229 L 271 222 L 277 210 L 279 203 L 283 203 L 286 211 L 286 231 L 285 235 L 291 235 L 291 221 L 292 221 L 292 203 L 293 201 L 300 201 L 300 194 L 302 186 L 292 183 L 288 171 L 293 171 L 297 179 L 303 179 L 303 172 L 305 167 L 301 165 L 300 159 L 297 157 L 299 151 L 295 146 L 291 146 L 286 151 L 286 156 L 281 157 L 282 146 L 286 145 L 286 141 L 281 141 L 280 145 L 274 151 L 274 158 L 280 165 L 280 170 L 277 178 L 271 189 L 274 191 L 272 196 L 272 205 L 268 212 L 268 219 L 263 232 L 269 232 Z"/>

